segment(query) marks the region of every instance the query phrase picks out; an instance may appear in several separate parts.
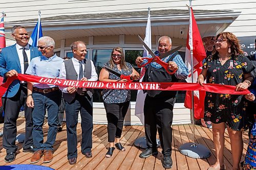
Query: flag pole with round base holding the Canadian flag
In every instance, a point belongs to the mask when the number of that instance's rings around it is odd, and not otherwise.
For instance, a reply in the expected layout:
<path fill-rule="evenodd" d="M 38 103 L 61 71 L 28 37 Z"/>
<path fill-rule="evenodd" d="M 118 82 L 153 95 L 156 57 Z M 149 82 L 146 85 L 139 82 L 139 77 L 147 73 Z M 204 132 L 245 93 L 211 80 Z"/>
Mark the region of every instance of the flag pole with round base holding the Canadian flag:
<path fill-rule="evenodd" d="M 193 65 L 193 25 L 192 25 L 192 17 L 191 17 L 191 7 L 192 7 L 192 0 L 189 0 L 189 47 L 190 47 L 190 56 L 191 56 L 191 81 L 194 83 L 193 80 L 193 72 L 194 72 L 194 65 Z M 192 38 L 191 38 L 192 37 Z M 181 154 L 186 155 L 191 158 L 208 158 L 210 156 L 210 150 L 206 148 L 202 144 L 195 143 L 195 106 L 194 106 L 194 91 L 192 93 L 192 124 L 193 124 L 193 142 L 192 143 L 184 143 L 180 146 L 179 151 Z"/>

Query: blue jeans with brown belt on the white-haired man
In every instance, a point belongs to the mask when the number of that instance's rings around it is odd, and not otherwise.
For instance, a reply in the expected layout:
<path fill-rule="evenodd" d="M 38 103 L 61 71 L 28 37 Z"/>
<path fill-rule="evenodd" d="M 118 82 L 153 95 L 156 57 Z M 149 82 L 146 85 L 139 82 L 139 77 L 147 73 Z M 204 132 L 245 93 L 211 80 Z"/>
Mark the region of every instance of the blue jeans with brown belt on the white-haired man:
<path fill-rule="evenodd" d="M 61 92 L 59 90 L 49 93 L 33 91 L 34 100 L 33 117 L 33 140 L 35 151 L 53 150 L 53 144 L 57 134 L 58 110 L 61 101 Z M 44 125 L 46 109 L 48 111 L 49 130 L 47 140 L 44 143 L 44 134 L 42 126 Z"/>

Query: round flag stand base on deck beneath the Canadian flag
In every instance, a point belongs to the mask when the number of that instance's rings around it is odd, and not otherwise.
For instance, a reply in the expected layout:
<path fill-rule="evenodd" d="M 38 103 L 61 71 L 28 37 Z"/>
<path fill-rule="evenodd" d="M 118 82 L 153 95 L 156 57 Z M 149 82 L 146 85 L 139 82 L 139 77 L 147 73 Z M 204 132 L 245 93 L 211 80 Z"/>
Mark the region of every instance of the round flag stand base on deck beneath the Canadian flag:
<path fill-rule="evenodd" d="M 210 156 L 210 150 L 202 144 L 185 143 L 179 148 L 181 154 L 191 158 L 208 158 Z"/>

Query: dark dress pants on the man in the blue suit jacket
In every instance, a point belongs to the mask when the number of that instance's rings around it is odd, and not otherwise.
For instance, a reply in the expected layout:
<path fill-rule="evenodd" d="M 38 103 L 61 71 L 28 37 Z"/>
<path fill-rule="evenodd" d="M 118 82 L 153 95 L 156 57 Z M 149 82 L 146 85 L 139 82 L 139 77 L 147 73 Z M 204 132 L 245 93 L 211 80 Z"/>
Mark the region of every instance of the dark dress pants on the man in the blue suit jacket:
<path fill-rule="evenodd" d="M 4 112 L 5 112 L 5 123 L 4 123 L 4 134 L 3 134 L 3 147 L 7 153 L 16 152 L 18 147 L 15 145 L 17 135 L 17 118 L 20 107 L 24 106 L 25 118 L 26 118 L 26 134 L 23 143 L 23 148 L 28 149 L 33 145 L 33 121 L 32 121 L 32 108 L 28 108 L 26 105 L 27 101 L 27 85 L 20 84 L 19 90 L 12 98 L 2 98 Z"/>

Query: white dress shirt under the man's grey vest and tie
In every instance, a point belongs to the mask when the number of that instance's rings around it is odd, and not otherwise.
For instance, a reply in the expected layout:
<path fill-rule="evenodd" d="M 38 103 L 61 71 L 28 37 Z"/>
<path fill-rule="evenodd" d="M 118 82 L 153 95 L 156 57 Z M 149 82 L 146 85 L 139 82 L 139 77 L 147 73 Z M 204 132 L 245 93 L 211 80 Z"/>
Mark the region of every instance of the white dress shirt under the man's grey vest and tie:
<path fill-rule="evenodd" d="M 77 80 L 78 80 L 78 78 L 79 78 L 79 60 L 77 60 L 74 57 L 71 58 L 71 60 L 72 60 L 73 65 L 75 67 L 75 70 L 76 70 L 76 73 L 77 73 Z M 89 59 L 87 59 L 87 60 L 89 60 Z M 97 81 L 98 80 L 98 75 L 97 75 L 95 66 L 94 66 L 92 60 L 90 60 L 90 61 L 91 61 L 91 65 L 92 65 L 92 73 L 91 73 L 91 79 L 88 79 L 88 81 Z M 82 60 L 82 69 L 84 70 L 84 62 L 83 62 L 83 60 Z M 65 68 L 65 63 L 64 62 L 61 64 L 61 67 L 60 67 L 59 79 L 67 79 L 66 78 L 66 68 Z M 59 89 L 62 92 L 65 92 L 65 93 L 68 93 L 67 88 L 68 87 L 59 86 Z"/>

